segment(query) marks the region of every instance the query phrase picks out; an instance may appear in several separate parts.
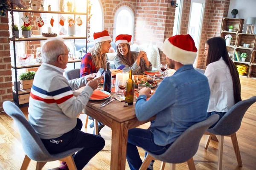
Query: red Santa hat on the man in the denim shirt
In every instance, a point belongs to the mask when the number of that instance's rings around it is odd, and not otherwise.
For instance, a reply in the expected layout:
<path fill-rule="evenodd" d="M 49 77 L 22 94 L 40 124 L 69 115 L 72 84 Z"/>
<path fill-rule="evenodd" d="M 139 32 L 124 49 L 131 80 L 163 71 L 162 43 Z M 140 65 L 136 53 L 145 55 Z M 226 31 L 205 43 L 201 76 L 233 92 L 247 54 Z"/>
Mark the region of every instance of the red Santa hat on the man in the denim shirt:
<path fill-rule="evenodd" d="M 197 56 L 195 42 L 189 34 L 166 39 L 162 50 L 166 57 L 183 65 L 194 64 Z"/>

